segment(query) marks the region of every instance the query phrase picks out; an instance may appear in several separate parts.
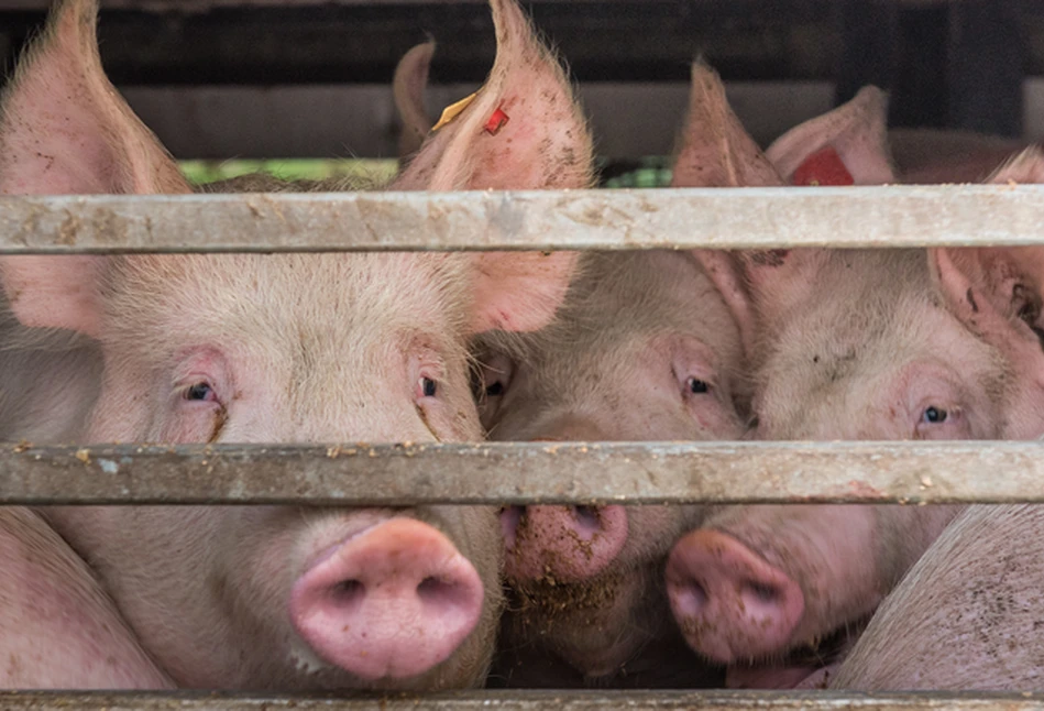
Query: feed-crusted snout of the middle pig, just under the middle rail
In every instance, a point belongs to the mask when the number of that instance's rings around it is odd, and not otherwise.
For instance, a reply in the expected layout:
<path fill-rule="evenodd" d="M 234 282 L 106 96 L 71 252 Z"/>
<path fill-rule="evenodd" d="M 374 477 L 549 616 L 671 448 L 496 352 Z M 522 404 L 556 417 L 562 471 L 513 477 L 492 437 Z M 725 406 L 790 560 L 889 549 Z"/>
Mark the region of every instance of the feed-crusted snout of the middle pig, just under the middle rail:
<path fill-rule="evenodd" d="M 623 506 L 509 506 L 501 513 L 507 576 L 578 582 L 608 567 L 627 542 Z"/>

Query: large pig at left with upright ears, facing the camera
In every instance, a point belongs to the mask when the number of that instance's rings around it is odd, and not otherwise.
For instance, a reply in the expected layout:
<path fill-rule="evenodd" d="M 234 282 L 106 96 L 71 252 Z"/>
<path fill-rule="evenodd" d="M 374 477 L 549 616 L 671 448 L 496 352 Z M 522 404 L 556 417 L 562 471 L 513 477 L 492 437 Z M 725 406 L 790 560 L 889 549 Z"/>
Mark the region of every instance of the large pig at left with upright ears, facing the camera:
<path fill-rule="evenodd" d="M 513 0 L 491 8 L 487 83 L 393 187 L 590 185 L 591 140 L 564 74 Z M 4 92 L 0 194 L 189 192 L 106 78 L 96 14 L 91 0 L 61 3 Z M 18 255 L 0 260 L 0 284 L 21 326 L 97 343 L 81 441 L 465 441 L 481 438 L 468 339 L 546 325 L 574 263 L 567 252 Z M 503 559 L 492 507 L 37 515 L 178 687 L 446 689 L 488 668 Z M 45 619 L 21 624 L 48 634 Z"/>

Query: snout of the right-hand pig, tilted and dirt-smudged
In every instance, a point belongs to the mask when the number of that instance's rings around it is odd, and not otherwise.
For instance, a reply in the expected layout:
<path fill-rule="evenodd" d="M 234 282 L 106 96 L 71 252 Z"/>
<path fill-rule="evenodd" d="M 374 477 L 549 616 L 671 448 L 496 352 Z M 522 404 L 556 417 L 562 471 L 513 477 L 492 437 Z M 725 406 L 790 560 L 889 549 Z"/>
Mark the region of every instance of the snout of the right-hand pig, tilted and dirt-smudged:
<path fill-rule="evenodd" d="M 776 652 L 804 612 L 798 583 L 717 530 L 674 545 L 667 590 L 689 646 L 722 664 Z"/>

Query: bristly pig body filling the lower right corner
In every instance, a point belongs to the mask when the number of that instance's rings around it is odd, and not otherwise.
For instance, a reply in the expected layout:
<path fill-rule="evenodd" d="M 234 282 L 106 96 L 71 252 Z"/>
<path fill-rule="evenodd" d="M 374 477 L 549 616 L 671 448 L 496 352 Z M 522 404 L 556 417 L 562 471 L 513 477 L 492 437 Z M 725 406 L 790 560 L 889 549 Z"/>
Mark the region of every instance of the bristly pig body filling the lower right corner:
<path fill-rule="evenodd" d="M 884 599 L 834 689 L 1041 691 L 1044 506 L 968 506 Z"/>

